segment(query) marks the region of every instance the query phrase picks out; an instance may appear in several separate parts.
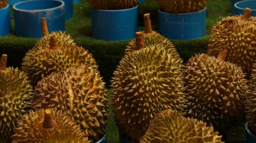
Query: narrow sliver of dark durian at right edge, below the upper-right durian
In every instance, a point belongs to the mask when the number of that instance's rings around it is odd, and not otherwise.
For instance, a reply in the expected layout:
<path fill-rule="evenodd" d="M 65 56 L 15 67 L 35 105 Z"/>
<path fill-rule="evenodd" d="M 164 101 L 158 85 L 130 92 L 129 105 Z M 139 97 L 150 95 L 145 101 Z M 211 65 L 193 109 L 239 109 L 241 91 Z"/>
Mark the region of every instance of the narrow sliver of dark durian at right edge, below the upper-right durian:
<path fill-rule="evenodd" d="M 251 94 L 246 101 L 246 119 L 249 130 L 256 135 L 256 68 L 252 69 L 250 88 Z"/>

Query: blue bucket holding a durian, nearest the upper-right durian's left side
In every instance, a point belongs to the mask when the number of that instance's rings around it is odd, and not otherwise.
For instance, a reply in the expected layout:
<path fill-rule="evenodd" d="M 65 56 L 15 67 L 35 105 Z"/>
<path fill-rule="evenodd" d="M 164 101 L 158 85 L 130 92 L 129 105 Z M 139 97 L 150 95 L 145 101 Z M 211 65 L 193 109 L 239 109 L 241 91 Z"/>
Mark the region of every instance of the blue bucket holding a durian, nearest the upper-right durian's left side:
<path fill-rule="evenodd" d="M 184 14 L 172 14 L 158 10 L 159 33 L 168 39 L 189 40 L 205 36 L 206 8 Z"/>

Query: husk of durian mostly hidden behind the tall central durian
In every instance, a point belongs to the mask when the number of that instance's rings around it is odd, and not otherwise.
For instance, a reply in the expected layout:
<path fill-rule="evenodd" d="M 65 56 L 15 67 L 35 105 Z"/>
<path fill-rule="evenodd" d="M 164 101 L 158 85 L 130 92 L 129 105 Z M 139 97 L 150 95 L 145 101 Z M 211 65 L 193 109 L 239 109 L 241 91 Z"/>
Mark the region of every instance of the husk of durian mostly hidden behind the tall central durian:
<path fill-rule="evenodd" d="M 153 33 L 143 33 L 143 43 L 145 45 L 145 47 L 148 47 L 150 45 L 159 45 L 162 44 L 164 45 L 164 47 L 169 50 L 170 53 L 172 53 L 172 56 L 174 56 L 175 58 L 177 58 L 178 60 L 180 60 L 180 64 L 183 63 L 183 60 L 180 59 L 180 55 L 177 52 L 176 48 L 174 47 L 173 43 L 165 38 L 164 36 L 158 34 L 157 32 Z M 136 39 L 133 39 L 132 41 L 130 41 L 128 43 L 128 46 L 126 46 L 125 49 L 125 53 L 131 53 L 136 51 Z"/>

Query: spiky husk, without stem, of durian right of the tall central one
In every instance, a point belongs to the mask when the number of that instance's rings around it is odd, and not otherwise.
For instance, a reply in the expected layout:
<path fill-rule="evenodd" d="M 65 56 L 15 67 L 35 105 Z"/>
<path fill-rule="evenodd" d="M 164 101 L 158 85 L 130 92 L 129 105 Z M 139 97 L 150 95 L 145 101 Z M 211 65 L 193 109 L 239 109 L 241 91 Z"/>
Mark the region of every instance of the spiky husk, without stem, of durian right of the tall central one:
<path fill-rule="evenodd" d="M 244 112 L 248 85 L 242 68 L 206 54 L 189 59 L 186 68 L 186 115 L 214 126 L 219 132 L 228 130 Z"/>

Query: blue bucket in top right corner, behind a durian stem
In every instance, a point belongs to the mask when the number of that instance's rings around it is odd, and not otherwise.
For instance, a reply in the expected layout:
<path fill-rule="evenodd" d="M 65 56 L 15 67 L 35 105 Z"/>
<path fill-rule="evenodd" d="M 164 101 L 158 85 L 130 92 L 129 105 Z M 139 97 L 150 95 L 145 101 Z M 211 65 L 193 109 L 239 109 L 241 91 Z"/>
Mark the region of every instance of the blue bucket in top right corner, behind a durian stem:
<path fill-rule="evenodd" d="M 245 8 L 251 9 L 251 16 L 256 16 L 256 0 L 241 1 L 234 4 L 236 15 L 244 13 Z"/>

